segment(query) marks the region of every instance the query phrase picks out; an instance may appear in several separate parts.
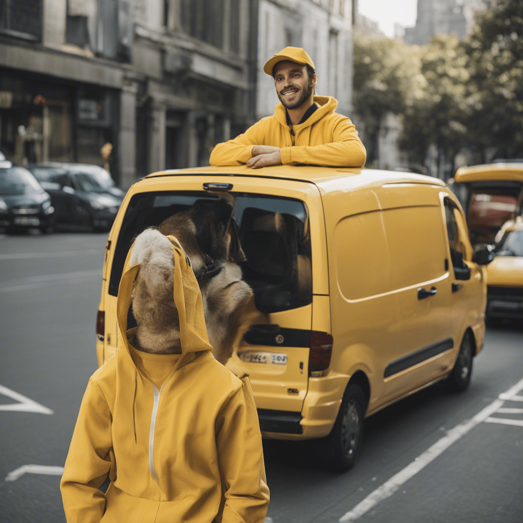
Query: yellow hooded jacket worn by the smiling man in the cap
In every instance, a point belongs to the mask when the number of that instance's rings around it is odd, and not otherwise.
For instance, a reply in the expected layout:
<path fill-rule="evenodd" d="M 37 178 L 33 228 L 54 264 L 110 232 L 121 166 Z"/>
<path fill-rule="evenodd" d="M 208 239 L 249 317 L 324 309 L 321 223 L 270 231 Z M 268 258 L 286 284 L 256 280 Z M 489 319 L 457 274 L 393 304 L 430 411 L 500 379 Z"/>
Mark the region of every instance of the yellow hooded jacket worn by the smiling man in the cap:
<path fill-rule="evenodd" d="M 219 143 L 211 153 L 211 165 L 242 165 L 252 157 L 254 145 L 281 148 L 282 164 L 309 164 L 327 167 L 362 167 L 367 159 L 365 146 L 358 137 L 353 122 L 334 112 L 338 102 L 332 96 L 315 96 L 318 109 L 303 123 L 287 124 L 287 112 L 282 104 L 274 115 L 262 118 L 244 134 Z"/>

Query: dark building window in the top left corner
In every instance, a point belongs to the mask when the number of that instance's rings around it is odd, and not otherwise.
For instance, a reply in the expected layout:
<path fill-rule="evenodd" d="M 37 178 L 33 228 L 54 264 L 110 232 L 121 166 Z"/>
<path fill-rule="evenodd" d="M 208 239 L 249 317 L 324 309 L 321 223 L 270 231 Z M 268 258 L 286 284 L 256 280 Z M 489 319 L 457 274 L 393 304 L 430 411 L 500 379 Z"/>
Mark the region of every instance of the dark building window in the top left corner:
<path fill-rule="evenodd" d="M 0 32 L 39 42 L 42 39 L 42 0 L 0 0 Z"/>

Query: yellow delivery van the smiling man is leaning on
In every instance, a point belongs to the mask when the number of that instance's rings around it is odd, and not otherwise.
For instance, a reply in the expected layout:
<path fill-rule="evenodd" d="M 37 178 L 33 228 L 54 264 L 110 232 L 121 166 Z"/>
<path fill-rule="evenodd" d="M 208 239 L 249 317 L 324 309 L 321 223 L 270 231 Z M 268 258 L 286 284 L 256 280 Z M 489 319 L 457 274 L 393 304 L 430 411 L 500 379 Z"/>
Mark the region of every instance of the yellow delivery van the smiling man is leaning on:
<path fill-rule="evenodd" d="M 133 238 L 217 190 L 235 199 L 244 279 L 269 314 L 233 356 L 250 374 L 263 437 L 321 439 L 346 470 L 365 416 L 439 380 L 467 388 L 492 255 L 473 253 L 444 182 L 373 169 L 200 167 L 135 183 L 107 242 L 99 365 L 125 335 L 116 302 Z"/>

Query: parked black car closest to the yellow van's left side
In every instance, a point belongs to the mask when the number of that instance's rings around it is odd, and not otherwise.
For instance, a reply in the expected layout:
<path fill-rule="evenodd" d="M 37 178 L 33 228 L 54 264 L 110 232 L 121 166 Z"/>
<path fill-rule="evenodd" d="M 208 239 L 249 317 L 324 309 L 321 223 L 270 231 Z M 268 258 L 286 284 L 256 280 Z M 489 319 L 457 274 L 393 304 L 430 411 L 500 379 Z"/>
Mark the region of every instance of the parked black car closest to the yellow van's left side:
<path fill-rule="evenodd" d="M 115 220 L 124 192 L 98 165 L 48 162 L 28 169 L 51 195 L 56 224 L 87 225 L 108 231 Z"/>

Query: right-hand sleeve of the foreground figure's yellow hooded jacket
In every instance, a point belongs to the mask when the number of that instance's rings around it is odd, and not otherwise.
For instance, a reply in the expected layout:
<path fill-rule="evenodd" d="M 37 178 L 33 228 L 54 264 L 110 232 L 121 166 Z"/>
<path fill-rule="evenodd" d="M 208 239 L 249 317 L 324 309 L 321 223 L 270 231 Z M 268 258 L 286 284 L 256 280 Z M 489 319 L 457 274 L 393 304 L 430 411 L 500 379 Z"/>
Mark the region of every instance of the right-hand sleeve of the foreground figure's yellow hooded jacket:
<path fill-rule="evenodd" d="M 217 420 L 217 450 L 224 488 L 223 523 L 263 523 L 269 506 L 263 448 L 248 377 Z"/>

